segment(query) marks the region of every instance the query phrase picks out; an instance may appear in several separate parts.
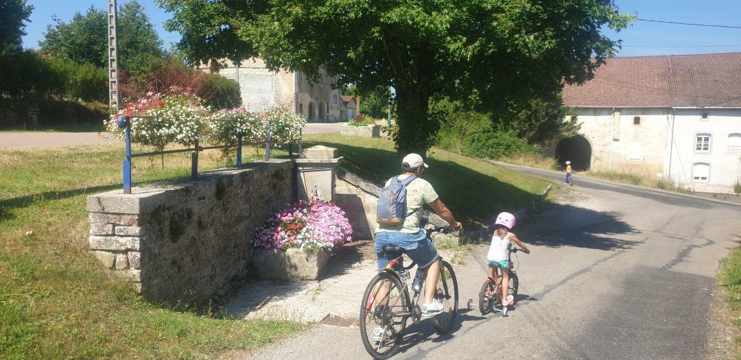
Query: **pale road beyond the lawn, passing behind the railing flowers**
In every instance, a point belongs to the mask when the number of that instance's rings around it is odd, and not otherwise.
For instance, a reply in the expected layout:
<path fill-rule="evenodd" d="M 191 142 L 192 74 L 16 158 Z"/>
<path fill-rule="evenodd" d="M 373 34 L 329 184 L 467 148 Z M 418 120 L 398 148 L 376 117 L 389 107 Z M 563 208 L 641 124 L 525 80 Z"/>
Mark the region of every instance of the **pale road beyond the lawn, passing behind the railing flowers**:
<path fill-rule="evenodd" d="M 342 123 L 306 124 L 305 134 L 339 133 Z M 110 133 L 0 133 L 0 150 L 121 144 Z"/>

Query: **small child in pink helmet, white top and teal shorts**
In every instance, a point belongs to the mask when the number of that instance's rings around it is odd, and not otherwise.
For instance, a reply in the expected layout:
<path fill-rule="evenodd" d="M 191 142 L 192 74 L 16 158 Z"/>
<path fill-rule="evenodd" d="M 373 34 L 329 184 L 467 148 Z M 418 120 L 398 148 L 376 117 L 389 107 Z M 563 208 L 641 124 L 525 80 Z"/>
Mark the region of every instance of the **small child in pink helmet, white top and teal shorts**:
<path fill-rule="evenodd" d="M 489 265 L 488 276 L 489 279 L 494 279 L 494 268 L 499 267 L 502 270 L 502 314 L 506 314 L 508 305 L 513 304 L 514 299 L 508 299 L 507 290 L 509 284 L 509 276 L 511 264 L 509 261 L 509 252 L 514 242 L 519 246 L 522 251 L 526 254 L 530 253 L 530 249 L 520 241 L 517 236 L 511 232 L 515 224 L 514 215 L 511 213 L 500 213 L 496 216 L 496 230 L 494 230 L 494 236 L 491 237 L 491 245 L 489 246 L 489 252 L 486 256 L 487 263 Z M 483 279 L 486 281 L 486 278 Z"/>

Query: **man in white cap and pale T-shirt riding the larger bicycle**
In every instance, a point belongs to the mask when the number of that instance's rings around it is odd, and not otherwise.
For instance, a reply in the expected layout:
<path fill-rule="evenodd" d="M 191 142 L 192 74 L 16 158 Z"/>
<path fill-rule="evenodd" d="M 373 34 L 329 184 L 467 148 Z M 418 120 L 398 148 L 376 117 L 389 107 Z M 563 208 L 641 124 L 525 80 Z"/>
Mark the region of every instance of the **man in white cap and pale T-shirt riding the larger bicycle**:
<path fill-rule="evenodd" d="M 459 229 L 461 224 L 453 217 L 451 210 L 440 201 L 432 185 L 421 179 L 422 173 L 428 167 L 422 156 L 411 153 L 402 160 L 402 174 L 397 176 L 404 181 L 410 176 L 416 176 L 406 185 L 407 215 L 403 224 L 396 226 L 379 224 L 376 228 L 376 256 L 378 268 L 382 270 L 388 265 L 390 254 L 382 251 L 385 246 L 398 246 L 405 250 L 407 256 L 425 269 L 425 303 L 422 305 L 422 319 L 428 319 L 442 313 L 443 306 L 434 299 L 437 280 L 440 276 L 440 256 L 437 249 L 427 238 L 425 229 L 420 228 L 422 222 L 422 207 L 428 204 L 435 213 L 448 221 L 451 229 Z M 386 181 L 388 186 L 392 179 Z M 393 256 L 393 254 L 391 254 Z M 397 255 L 398 256 L 398 255 Z"/>

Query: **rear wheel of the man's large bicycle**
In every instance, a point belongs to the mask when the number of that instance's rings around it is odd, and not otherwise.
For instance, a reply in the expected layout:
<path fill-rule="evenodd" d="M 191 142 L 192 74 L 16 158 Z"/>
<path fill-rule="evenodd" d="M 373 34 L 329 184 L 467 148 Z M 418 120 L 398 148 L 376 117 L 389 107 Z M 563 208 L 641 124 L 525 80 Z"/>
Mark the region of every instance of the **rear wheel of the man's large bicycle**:
<path fill-rule="evenodd" d="M 396 314 L 408 313 L 408 304 L 405 287 L 391 273 L 379 273 L 365 288 L 360 304 L 360 338 L 374 359 L 388 359 L 399 351 L 408 316 Z"/>

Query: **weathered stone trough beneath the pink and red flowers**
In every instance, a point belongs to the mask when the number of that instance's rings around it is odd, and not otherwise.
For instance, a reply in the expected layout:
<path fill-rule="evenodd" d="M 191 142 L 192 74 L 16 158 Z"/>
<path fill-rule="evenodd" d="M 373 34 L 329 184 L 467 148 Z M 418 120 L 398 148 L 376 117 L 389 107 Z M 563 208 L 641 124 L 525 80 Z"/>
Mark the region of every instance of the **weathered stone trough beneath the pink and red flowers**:
<path fill-rule="evenodd" d="M 261 279 L 316 280 L 327 270 L 332 253 L 320 250 L 309 255 L 301 249 L 253 249 L 252 263 Z"/>

